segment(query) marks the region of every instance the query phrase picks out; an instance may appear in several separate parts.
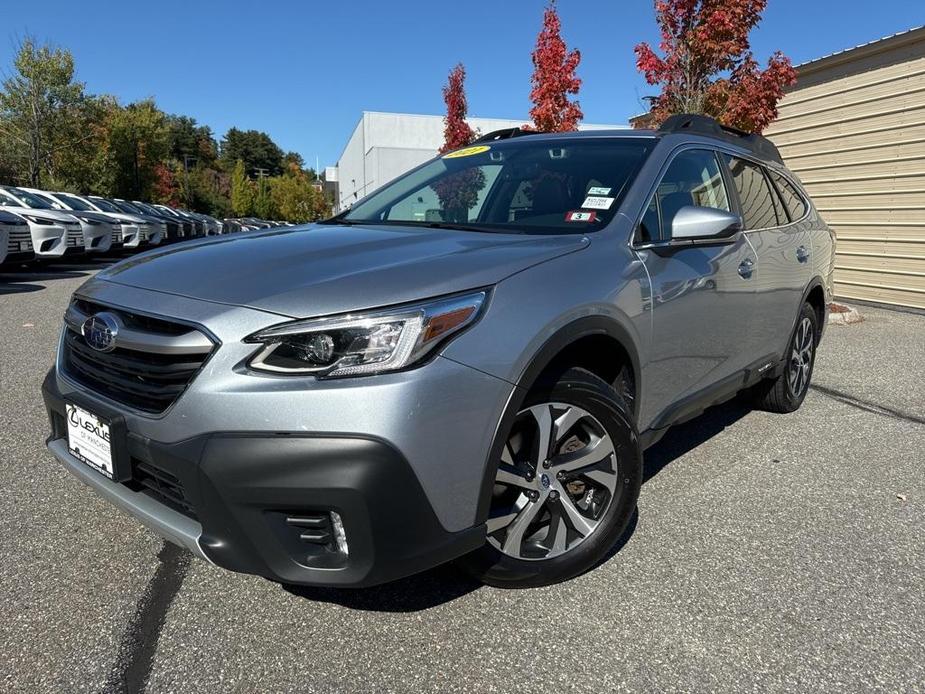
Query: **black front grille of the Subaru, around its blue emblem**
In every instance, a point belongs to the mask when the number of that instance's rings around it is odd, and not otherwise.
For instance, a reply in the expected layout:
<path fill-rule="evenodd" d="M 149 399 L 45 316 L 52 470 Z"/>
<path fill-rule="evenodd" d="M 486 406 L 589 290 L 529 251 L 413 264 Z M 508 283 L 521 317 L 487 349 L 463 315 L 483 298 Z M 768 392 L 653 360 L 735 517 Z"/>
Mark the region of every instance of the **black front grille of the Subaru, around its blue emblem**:
<path fill-rule="evenodd" d="M 116 313 L 126 326 L 146 332 L 179 335 L 192 330 L 85 301 L 76 304 L 89 315 L 100 310 Z M 209 358 L 209 353 L 158 354 L 124 348 L 98 352 L 70 328 L 65 331 L 61 354 L 64 371 L 74 380 L 111 400 L 153 414 L 170 407 Z"/>

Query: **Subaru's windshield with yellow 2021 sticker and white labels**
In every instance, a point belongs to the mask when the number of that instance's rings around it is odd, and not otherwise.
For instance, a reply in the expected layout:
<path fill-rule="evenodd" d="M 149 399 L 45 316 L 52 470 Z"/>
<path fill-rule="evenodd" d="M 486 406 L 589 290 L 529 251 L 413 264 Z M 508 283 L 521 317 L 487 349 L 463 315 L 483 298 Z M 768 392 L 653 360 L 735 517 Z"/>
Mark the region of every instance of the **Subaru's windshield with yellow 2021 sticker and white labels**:
<path fill-rule="evenodd" d="M 331 221 L 583 234 L 613 219 L 653 145 L 642 138 L 527 136 L 467 147 L 415 169 Z"/>

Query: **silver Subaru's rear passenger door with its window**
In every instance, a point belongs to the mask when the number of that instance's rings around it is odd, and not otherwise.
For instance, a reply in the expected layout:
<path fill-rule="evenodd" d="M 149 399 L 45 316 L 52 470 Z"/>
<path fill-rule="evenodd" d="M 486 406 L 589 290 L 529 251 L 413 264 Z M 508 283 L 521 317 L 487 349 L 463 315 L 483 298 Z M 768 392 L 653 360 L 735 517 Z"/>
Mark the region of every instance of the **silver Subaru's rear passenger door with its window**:
<path fill-rule="evenodd" d="M 791 213 L 766 167 L 728 154 L 724 159 L 745 233 L 758 256 L 756 314 L 750 349 L 755 359 L 780 357 L 810 280 L 812 244 L 805 224 L 799 219 L 791 221 Z"/>

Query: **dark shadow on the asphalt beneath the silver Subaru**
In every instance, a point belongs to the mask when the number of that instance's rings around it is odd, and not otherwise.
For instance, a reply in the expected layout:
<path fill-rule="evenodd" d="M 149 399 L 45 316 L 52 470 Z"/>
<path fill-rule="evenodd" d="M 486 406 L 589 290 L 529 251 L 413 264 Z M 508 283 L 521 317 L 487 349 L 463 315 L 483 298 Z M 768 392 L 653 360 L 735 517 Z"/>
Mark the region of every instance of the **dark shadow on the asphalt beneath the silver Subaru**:
<path fill-rule="evenodd" d="M 672 427 L 661 441 L 646 451 L 643 484 L 671 462 L 742 419 L 752 409 L 748 395 L 742 394 L 722 405 L 709 408 L 689 422 Z M 610 561 L 630 541 L 636 531 L 638 518 L 639 510 L 636 509 L 613 548 L 591 571 L 596 571 Z M 283 590 L 306 600 L 368 612 L 419 612 L 452 602 L 482 587 L 482 583 L 469 577 L 453 563 L 372 588 L 282 585 Z"/>

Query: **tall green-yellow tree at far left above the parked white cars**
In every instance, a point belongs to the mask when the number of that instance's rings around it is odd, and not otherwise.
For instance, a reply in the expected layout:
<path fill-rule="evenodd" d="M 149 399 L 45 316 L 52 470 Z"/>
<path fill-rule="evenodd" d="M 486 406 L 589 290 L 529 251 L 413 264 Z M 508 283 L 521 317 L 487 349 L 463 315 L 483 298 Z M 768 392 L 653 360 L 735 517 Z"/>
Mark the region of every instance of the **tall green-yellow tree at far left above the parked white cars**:
<path fill-rule="evenodd" d="M 39 46 L 31 37 L 20 43 L 13 67 L 0 91 L 0 135 L 11 141 L 23 178 L 40 187 L 51 157 L 75 142 L 61 134 L 70 131 L 65 124 L 83 100 L 84 85 L 74 80 L 70 51 Z"/>

